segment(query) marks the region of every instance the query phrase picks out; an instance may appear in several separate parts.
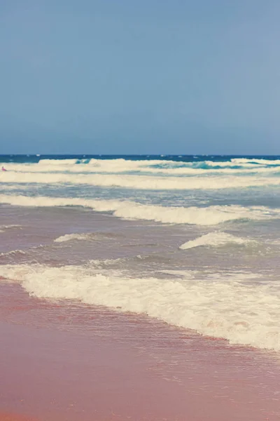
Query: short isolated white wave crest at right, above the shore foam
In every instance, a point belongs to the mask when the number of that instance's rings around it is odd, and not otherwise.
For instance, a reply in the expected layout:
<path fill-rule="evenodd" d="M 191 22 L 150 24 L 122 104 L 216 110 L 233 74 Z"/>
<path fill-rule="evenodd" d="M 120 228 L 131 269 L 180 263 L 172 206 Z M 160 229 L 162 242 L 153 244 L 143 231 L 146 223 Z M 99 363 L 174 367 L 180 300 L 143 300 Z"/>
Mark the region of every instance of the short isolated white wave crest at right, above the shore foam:
<path fill-rule="evenodd" d="M 226 232 L 209 232 L 209 234 L 202 235 L 195 240 L 187 241 L 183 243 L 179 248 L 187 250 L 188 248 L 200 247 L 200 246 L 225 246 L 226 244 L 238 244 L 247 245 L 255 243 L 251 239 L 244 239 L 241 237 L 228 234 Z"/>

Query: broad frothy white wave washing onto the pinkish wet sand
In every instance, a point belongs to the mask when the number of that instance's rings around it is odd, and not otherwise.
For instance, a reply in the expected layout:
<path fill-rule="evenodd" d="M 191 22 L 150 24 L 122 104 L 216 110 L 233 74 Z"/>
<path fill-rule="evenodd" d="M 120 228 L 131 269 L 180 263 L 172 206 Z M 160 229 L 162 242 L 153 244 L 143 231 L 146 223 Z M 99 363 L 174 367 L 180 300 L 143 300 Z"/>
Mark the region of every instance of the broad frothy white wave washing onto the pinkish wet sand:
<path fill-rule="evenodd" d="M 197 279 L 123 277 L 88 265 L 3 265 L 4 279 L 19 281 L 30 295 L 79 300 L 122 312 L 147 314 L 202 335 L 280 351 L 280 286 L 257 283 L 253 274 L 212 274 Z M 277 289 L 277 288 L 278 289 Z"/>

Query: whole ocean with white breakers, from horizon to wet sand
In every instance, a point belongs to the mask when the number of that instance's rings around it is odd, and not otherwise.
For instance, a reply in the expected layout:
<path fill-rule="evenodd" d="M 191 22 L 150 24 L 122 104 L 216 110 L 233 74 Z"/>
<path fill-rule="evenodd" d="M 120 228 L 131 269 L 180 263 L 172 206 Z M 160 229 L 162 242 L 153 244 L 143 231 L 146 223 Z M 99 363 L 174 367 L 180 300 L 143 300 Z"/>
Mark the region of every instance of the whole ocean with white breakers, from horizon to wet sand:
<path fill-rule="evenodd" d="M 0 164 L 5 288 L 279 361 L 280 156 L 1 155 Z"/>

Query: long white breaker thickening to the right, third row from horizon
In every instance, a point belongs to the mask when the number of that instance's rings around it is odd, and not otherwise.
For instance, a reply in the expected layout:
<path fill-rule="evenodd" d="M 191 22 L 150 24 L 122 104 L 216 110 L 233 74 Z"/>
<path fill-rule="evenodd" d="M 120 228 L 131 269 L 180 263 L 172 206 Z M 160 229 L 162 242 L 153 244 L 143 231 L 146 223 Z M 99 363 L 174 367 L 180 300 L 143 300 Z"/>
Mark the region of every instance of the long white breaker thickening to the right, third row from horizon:
<path fill-rule="evenodd" d="M 142 205 L 134 201 L 92 200 L 78 198 L 48 197 L 48 196 L 10 196 L 0 195 L 0 203 L 14 206 L 82 206 L 97 212 L 111 212 L 118 218 L 128 220 L 149 220 L 167 224 L 217 225 L 233 220 L 267 220 L 279 218 L 280 209 L 265 206 L 208 206 L 198 208 L 190 206 L 167 207 Z"/>

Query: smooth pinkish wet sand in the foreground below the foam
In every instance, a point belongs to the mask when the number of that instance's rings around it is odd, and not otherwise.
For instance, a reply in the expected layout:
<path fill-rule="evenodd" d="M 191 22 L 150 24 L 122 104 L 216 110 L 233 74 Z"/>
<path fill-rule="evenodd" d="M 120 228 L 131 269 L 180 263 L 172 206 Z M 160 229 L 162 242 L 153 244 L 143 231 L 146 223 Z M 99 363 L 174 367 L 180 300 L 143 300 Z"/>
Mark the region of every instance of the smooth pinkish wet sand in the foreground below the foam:
<path fill-rule="evenodd" d="M 0 300 L 0 421 L 280 420 L 276 354 L 3 281 Z"/>

